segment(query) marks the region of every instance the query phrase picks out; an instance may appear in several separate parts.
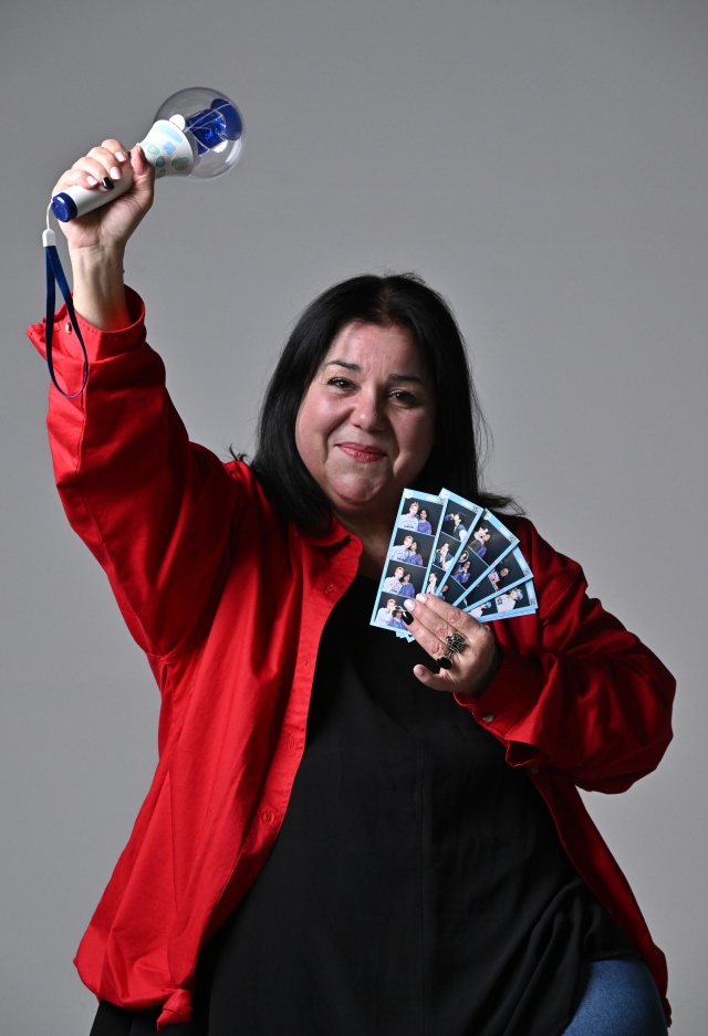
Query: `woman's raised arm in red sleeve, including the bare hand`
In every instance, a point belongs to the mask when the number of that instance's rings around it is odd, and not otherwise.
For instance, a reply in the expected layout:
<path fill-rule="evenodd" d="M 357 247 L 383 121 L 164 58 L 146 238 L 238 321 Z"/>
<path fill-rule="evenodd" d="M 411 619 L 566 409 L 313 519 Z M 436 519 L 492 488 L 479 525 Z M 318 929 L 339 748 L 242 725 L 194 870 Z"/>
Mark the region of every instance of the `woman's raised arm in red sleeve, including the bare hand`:
<path fill-rule="evenodd" d="M 153 200 L 152 167 L 139 148 L 128 158 L 117 140 L 106 140 L 55 190 L 105 190 L 92 180 L 118 171 L 134 180 L 127 193 L 62 224 L 90 374 L 74 399 L 50 388 L 48 427 L 72 526 L 106 571 L 135 639 L 163 656 L 206 630 L 230 559 L 239 493 L 221 461 L 188 441 L 163 363 L 145 342 L 140 300 L 123 283 L 126 242 Z M 75 390 L 82 364 L 66 327 L 60 312 L 55 367 Z M 42 325 L 29 333 L 41 352 Z"/>

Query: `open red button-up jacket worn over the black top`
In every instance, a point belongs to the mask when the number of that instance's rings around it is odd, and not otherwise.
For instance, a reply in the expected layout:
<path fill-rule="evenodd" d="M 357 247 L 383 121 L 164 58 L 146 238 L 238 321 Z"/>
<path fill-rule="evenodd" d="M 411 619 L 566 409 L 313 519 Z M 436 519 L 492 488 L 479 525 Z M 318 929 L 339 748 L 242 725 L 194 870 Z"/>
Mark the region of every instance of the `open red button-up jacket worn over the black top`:
<path fill-rule="evenodd" d="M 76 965 L 101 998 L 164 1005 L 186 1021 L 198 953 L 273 845 L 305 743 L 317 645 L 357 569 L 360 541 L 283 530 L 250 469 L 189 442 L 133 323 L 83 323 L 91 368 L 76 399 L 50 388 L 49 433 L 69 520 L 106 572 L 162 692 L 159 762 Z M 74 388 L 74 336 L 55 320 L 56 367 Z M 43 352 L 42 324 L 29 335 Z M 575 562 L 523 519 L 509 524 L 535 576 L 532 616 L 494 622 L 501 668 L 458 697 L 523 766 L 570 858 L 644 954 L 666 963 L 576 786 L 623 792 L 670 740 L 674 680 L 585 594 Z M 666 1004 L 666 1001 L 665 1001 Z M 668 1005 L 666 1005 L 668 1017 Z"/>

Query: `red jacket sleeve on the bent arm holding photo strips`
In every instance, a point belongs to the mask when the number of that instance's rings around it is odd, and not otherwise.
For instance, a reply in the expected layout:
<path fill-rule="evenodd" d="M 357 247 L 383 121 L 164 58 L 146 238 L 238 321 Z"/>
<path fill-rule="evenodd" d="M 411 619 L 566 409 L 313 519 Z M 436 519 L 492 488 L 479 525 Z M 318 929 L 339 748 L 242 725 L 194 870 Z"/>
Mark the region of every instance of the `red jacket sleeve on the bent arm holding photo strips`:
<path fill-rule="evenodd" d="M 539 611 L 493 624 L 497 676 L 478 699 L 458 701 L 507 745 L 511 765 L 553 766 L 582 788 L 623 792 L 671 739 L 674 678 L 587 596 L 579 565 L 519 524 Z"/>

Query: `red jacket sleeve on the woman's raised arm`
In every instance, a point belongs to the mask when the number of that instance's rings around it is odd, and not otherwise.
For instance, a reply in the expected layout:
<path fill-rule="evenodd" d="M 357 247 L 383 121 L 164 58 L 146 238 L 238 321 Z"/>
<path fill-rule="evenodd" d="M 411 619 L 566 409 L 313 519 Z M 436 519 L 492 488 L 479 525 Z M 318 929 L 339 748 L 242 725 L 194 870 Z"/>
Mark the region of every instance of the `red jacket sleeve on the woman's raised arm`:
<path fill-rule="evenodd" d="M 50 387 L 48 428 L 56 485 L 73 529 L 105 569 L 131 632 L 150 655 L 179 649 L 208 624 L 229 563 L 238 483 L 189 442 L 145 341 L 143 303 L 126 290 L 132 324 L 81 329 L 90 359 L 75 399 Z M 54 325 L 55 366 L 73 390 L 81 356 Z M 43 354 L 44 328 L 28 334 Z"/>

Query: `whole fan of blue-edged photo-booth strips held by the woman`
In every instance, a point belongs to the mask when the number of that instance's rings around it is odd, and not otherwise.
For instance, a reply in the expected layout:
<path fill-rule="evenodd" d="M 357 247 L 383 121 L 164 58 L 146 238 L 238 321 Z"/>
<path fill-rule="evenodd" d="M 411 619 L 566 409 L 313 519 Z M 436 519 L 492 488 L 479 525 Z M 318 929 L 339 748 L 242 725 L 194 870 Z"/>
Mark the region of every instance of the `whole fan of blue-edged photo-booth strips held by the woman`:
<path fill-rule="evenodd" d="M 530 615 L 538 608 L 533 573 L 518 543 L 490 511 L 450 490 L 405 489 L 371 625 L 413 640 L 404 607 L 423 592 L 480 622 Z"/>

